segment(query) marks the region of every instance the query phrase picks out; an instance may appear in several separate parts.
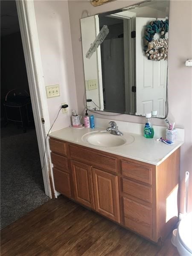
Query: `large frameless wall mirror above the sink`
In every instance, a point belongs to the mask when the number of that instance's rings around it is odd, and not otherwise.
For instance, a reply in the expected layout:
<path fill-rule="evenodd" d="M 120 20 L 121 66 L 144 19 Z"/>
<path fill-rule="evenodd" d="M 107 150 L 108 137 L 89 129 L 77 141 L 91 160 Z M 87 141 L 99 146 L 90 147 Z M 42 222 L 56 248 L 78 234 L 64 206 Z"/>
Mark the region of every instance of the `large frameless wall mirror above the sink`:
<path fill-rule="evenodd" d="M 169 1 L 81 19 L 87 108 L 166 116 Z"/>

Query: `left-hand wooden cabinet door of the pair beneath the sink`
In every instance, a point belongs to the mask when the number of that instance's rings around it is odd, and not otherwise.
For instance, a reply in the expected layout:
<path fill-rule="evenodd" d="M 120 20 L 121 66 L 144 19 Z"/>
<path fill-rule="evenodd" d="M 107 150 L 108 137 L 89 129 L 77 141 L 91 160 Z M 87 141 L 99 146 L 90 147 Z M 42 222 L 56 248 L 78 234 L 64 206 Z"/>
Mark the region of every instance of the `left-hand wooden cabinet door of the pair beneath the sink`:
<path fill-rule="evenodd" d="M 91 167 L 73 160 L 71 167 L 75 200 L 87 207 L 94 208 Z"/>

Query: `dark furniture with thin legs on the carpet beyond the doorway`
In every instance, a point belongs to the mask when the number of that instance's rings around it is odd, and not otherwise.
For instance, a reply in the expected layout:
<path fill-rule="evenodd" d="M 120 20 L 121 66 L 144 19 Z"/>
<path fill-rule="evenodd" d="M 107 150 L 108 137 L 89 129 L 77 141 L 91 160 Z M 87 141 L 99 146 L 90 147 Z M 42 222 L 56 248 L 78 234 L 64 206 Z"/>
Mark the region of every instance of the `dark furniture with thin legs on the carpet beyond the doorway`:
<path fill-rule="evenodd" d="M 27 126 L 34 122 L 31 98 L 26 90 L 13 89 L 6 94 L 3 103 L 6 113 L 6 122 L 12 121 L 23 127 L 26 132 Z"/>

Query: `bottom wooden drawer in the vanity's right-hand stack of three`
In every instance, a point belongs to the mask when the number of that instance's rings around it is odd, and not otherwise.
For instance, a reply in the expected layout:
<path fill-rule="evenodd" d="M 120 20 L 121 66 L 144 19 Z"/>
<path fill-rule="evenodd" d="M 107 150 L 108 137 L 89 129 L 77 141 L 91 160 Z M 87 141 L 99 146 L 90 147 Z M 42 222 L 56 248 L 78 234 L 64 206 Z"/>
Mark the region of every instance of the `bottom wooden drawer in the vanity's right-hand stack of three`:
<path fill-rule="evenodd" d="M 123 198 L 124 224 L 135 232 L 152 237 L 152 209 Z"/>

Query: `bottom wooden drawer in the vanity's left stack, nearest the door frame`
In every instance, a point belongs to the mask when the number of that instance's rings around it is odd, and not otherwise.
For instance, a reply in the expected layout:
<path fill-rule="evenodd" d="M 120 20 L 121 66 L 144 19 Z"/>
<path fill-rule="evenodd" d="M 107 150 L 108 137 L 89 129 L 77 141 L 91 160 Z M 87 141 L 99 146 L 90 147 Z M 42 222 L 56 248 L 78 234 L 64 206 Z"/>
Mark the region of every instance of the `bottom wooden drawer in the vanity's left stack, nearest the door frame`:
<path fill-rule="evenodd" d="M 67 172 L 61 172 L 60 170 L 53 168 L 53 176 L 54 176 L 54 182 L 55 182 L 55 189 L 58 192 L 71 198 L 72 193 L 71 193 L 70 174 Z"/>

